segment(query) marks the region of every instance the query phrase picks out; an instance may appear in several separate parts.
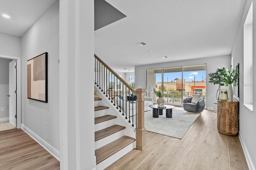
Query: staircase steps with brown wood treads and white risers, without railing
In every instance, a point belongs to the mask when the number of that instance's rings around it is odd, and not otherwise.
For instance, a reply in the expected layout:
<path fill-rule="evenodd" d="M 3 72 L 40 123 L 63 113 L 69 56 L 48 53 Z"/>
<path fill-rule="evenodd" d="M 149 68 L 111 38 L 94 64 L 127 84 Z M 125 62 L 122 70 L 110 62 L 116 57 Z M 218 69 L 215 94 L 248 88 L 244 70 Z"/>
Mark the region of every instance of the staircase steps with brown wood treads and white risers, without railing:
<path fill-rule="evenodd" d="M 130 125 L 122 121 L 113 104 L 99 93 L 100 98 L 94 99 L 95 156 L 96 169 L 103 170 L 134 149 L 135 139 L 129 135 Z"/>

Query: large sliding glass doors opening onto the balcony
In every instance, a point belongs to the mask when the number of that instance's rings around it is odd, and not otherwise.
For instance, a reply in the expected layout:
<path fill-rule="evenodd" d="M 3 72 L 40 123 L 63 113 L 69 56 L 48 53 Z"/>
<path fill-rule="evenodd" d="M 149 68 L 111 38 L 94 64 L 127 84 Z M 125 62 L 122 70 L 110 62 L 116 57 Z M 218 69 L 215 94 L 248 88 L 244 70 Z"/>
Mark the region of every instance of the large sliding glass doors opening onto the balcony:
<path fill-rule="evenodd" d="M 205 78 L 206 65 L 148 69 L 147 87 L 161 91 L 166 104 L 182 106 L 183 99 L 194 94 L 200 94 L 205 99 Z M 150 94 L 156 101 L 157 96 Z"/>

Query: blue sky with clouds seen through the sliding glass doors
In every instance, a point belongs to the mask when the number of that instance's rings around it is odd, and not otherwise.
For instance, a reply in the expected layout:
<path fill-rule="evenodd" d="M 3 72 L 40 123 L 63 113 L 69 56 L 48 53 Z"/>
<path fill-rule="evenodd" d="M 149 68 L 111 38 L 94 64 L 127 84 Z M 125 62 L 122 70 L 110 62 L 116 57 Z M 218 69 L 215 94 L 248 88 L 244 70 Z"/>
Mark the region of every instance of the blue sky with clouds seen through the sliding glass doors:
<path fill-rule="evenodd" d="M 196 77 L 196 81 L 205 81 L 206 78 L 206 71 L 201 70 L 201 71 L 186 71 L 184 72 L 183 78 L 185 79 L 185 82 L 188 81 L 194 81 L 194 77 Z M 164 73 L 164 82 L 174 81 L 175 78 L 182 78 L 182 73 L 181 72 L 175 72 L 175 73 Z M 156 74 L 156 83 L 162 82 L 162 74 L 157 73 Z"/>

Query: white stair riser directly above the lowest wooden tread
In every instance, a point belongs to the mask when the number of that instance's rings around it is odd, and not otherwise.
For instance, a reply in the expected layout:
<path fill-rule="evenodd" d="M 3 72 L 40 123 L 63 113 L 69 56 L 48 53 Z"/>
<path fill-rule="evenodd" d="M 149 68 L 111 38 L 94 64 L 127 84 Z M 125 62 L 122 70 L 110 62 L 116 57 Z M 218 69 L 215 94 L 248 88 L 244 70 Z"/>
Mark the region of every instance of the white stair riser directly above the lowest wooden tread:
<path fill-rule="evenodd" d="M 97 140 L 94 142 L 94 146 L 95 146 L 95 150 L 106 145 L 106 144 L 109 144 L 110 142 L 113 142 L 114 140 L 124 136 L 125 134 L 125 129 L 123 130 L 120 130 L 114 134 L 111 134 L 109 136 L 106 136 L 105 138 L 102 138 L 100 140 Z"/>

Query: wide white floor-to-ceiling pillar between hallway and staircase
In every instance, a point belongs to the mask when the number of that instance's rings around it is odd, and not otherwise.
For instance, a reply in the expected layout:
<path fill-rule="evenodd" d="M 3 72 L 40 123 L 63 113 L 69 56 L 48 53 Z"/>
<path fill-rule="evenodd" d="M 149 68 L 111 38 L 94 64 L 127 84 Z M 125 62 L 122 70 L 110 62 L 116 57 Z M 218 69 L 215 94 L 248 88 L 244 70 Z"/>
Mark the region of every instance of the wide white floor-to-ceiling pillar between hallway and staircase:
<path fill-rule="evenodd" d="M 60 0 L 60 169 L 92 170 L 94 0 Z"/>

